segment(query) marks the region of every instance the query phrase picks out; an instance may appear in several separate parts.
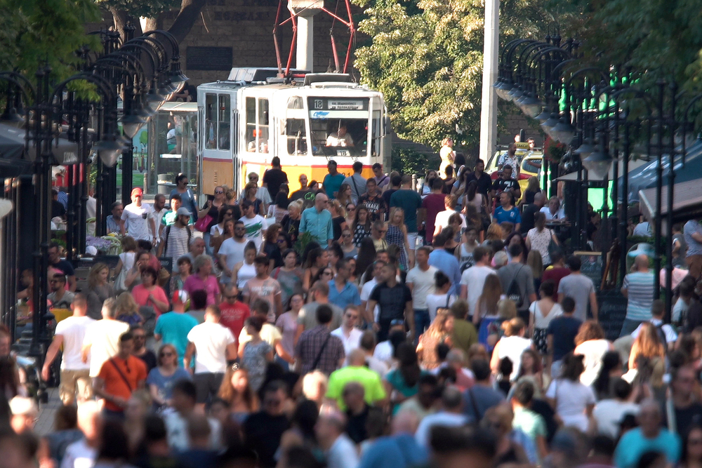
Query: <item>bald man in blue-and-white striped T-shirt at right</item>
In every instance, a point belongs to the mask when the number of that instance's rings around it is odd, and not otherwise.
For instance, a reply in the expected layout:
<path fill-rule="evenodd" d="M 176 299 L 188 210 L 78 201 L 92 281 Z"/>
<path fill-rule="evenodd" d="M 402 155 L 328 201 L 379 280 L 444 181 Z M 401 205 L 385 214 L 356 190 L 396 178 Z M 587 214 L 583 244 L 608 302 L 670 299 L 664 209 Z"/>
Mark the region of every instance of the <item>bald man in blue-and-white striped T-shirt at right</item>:
<path fill-rule="evenodd" d="M 654 282 L 656 278 L 649 269 L 649 258 L 637 255 L 631 273 L 624 276 L 621 293 L 628 298 L 626 317 L 619 336 L 630 335 L 644 321 L 653 318 L 651 305 L 654 302 Z"/>

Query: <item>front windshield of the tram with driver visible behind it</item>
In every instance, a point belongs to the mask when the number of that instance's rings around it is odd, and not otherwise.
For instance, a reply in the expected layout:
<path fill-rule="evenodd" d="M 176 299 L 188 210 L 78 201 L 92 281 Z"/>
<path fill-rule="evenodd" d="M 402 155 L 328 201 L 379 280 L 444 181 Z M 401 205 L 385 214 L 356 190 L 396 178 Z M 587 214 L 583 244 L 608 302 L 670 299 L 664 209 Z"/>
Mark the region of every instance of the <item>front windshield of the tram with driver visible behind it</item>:
<path fill-rule="evenodd" d="M 308 98 L 314 156 L 366 156 L 368 98 Z"/>

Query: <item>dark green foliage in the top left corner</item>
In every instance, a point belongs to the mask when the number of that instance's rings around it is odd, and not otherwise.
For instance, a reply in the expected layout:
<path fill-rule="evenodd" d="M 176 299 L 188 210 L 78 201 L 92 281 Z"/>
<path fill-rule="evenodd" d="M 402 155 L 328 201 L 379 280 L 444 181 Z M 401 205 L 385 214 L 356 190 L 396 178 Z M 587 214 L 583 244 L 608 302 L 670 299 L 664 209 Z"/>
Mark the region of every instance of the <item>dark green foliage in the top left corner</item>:
<path fill-rule="evenodd" d="M 100 50 L 96 36 L 86 36 L 86 22 L 100 20 L 94 0 L 0 0 L 0 69 L 16 69 L 34 81 L 48 65 L 55 80 L 77 71 L 82 46 Z M 86 88 L 87 83 L 77 88 Z"/>

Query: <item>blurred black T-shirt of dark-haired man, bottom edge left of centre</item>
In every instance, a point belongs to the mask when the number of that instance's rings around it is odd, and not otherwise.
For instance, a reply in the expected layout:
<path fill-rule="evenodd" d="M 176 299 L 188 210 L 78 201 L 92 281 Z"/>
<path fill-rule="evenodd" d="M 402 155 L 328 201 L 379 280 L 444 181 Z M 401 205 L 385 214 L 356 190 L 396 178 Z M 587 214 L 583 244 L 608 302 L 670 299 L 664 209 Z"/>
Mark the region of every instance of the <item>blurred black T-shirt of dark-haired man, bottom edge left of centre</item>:
<path fill-rule="evenodd" d="M 258 453 L 260 466 L 274 467 L 275 452 L 280 446 L 280 438 L 290 427 L 285 415 L 271 416 L 265 411 L 253 413 L 244 421 L 244 443 Z"/>

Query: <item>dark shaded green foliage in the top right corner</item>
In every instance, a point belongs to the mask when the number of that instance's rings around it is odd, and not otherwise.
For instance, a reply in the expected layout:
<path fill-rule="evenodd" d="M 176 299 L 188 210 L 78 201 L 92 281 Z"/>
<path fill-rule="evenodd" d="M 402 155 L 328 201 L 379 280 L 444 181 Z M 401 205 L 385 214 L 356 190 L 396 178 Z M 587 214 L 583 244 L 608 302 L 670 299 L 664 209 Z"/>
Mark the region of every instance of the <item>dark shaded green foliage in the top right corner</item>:
<path fill-rule="evenodd" d="M 592 64 L 630 70 L 645 86 L 674 78 L 702 89 L 702 8 L 698 0 L 550 0 L 567 34 L 582 39 Z"/>

